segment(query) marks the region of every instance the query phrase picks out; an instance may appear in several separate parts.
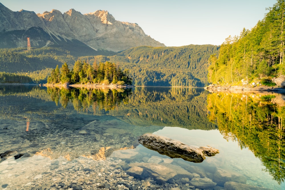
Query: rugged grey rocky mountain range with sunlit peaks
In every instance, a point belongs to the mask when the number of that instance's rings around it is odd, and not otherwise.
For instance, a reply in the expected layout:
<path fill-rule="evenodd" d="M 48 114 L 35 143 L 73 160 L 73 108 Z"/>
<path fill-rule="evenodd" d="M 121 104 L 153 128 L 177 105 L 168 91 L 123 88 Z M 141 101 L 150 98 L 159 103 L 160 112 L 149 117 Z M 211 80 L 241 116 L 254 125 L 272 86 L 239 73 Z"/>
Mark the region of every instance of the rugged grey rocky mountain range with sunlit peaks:
<path fill-rule="evenodd" d="M 70 9 L 36 14 L 11 11 L 0 3 L 0 48 L 27 46 L 61 47 L 80 55 L 111 54 L 136 46 L 160 47 L 164 44 L 147 36 L 136 23 L 116 21 L 108 11 L 81 14 Z"/>

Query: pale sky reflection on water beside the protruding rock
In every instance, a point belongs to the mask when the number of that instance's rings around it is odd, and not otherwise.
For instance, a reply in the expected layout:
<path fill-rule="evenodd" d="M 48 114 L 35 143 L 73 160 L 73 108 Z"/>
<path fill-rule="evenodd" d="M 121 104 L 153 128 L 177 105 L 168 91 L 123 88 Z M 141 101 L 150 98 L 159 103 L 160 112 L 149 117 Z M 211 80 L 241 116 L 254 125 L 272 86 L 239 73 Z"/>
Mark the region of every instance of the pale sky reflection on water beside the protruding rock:
<path fill-rule="evenodd" d="M 207 167 L 207 163 L 222 163 L 222 165 L 219 166 L 220 168 L 238 172 L 246 177 L 259 179 L 268 185 L 279 186 L 276 181 L 272 180 L 272 176 L 268 172 L 263 171 L 265 167 L 262 165 L 262 162 L 255 157 L 253 152 L 248 148 L 241 150 L 237 142 L 232 140 L 227 141 L 223 138 L 223 135 L 220 134 L 219 130 L 206 131 L 188 130 L 179 127 L 164 127 L 154 132 L 154 134 L 166 136 L 190 146 L 208 145 L 219 149 L 219 154 L 213 157 L 206 157 L 206 160 L 196 164 L 197 166 Z M 248 183 L 250 183 L 250 181 L 248 181 Z M 268 188 L 270 188 L 270 186 L 271 185 L 269 185 Z M 285 184 L 282 183 L 280 188 L 285 189 Z"/>

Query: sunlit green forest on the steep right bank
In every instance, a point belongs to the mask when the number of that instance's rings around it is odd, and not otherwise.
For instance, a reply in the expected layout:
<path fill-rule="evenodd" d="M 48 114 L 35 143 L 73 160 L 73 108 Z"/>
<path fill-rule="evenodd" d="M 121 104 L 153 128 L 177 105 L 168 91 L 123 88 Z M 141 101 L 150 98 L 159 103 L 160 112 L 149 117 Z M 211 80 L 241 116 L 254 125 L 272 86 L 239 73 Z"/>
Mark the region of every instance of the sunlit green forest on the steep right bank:
<path fill-rule="evenodd" d="M 226 38 L 218 58 L 209 58 L 209 83 L 270 84 L 272 77 L 284 75 L 284 9 L 284 0 L 278 0 L 251 30 L 243 28 L 239 36 Z"/>

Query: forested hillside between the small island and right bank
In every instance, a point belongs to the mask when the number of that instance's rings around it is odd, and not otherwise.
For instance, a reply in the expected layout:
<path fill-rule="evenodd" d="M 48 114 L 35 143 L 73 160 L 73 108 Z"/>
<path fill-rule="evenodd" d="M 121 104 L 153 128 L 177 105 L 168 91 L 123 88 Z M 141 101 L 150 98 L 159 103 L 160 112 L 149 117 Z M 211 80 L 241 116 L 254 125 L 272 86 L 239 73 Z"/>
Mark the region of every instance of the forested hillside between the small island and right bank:
<path fill-rule="evenodd" d="M 121 68 L 129 69 L 135 85 L 204 87 L 208 84 L 207 60 L 218 50 L 219 46 L 214 45 L 140 46 L 108 59 Z"/>

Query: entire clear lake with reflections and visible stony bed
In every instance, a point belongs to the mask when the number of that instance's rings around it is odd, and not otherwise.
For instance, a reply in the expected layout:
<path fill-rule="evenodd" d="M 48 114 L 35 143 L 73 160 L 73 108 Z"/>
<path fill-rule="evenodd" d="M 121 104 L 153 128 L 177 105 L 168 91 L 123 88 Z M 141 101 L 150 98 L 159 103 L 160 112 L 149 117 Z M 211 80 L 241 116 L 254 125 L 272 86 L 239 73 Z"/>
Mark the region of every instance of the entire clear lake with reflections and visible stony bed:
<path fill-rule="evenodd" d="M 0 189 L 285 189 L 285 95 L 0 85 Z M 219 154 L 201 163 L 145 133 Z"/>

